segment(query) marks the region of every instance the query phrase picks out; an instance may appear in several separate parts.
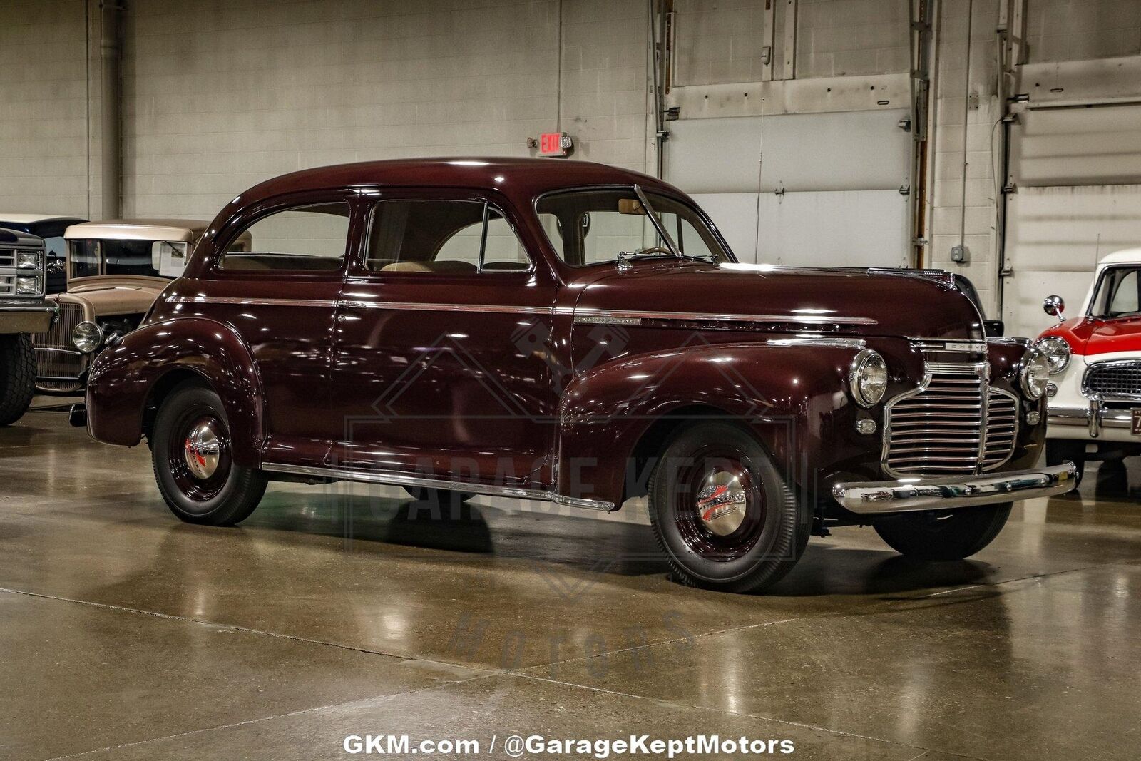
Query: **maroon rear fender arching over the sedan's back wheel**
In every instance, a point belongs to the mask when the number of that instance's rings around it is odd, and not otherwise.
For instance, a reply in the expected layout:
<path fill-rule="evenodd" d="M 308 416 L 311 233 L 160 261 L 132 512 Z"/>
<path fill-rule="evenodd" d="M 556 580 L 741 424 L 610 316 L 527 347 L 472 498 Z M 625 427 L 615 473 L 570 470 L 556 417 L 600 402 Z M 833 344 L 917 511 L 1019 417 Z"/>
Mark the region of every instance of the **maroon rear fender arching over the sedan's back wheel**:
<path fill-rule="evenodd" d="M 192 372 L 213 388 L 229 421 L 234 462 L 257 467 L 265 430 L 257 365 L 230 327 L 203 317 L 144 325 L 96 358 L 87 387 L 90 435 L 107 444 L 138 444 L 155 387 L 176 372 Z"/>

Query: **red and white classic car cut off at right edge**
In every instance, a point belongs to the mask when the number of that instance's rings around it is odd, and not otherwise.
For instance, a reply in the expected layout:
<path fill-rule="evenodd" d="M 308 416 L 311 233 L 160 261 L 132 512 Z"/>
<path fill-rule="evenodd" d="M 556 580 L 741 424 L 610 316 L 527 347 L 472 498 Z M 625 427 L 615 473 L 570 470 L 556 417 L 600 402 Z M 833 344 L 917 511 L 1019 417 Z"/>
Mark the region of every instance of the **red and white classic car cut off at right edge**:
<path fill-rule="evenodd" d="M 1059 323 L 1038 337 L 1050 363 L 1046 462 L 1141 454 L 1141 249 L 1111 253 L 1098 265 L 1077 314 L 1061 297 L 1046 298 Z"/>

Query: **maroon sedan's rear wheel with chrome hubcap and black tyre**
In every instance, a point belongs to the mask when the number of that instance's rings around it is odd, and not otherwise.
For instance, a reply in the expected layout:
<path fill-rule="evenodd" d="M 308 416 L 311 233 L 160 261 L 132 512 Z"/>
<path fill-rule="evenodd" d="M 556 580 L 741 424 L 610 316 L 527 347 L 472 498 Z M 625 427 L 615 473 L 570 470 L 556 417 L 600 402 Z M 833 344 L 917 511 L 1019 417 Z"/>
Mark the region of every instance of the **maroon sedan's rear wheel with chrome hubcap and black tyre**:
<path fill-rule="evenodd" d="M 167 507 L 192 524 L 232 526 L 261 501 L 266 477 L 234 464 L 221 399 L 196 383 L 179 386 L 155 416 L 154 478 Z"/>

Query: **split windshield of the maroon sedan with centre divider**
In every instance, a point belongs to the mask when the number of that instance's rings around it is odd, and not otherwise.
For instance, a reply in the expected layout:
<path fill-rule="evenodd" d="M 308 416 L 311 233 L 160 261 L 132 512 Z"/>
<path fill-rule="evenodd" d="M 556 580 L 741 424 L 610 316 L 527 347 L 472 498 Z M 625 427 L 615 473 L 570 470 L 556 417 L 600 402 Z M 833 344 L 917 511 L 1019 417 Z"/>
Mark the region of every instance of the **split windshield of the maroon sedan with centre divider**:
<path fill-rule="evenodd" d="M 657 193 L 645 197 L 685 259 L 733 261 L 696 209 Z M 632 187 L 551 193 L 539 200 L 535 211 L 556 253 L 573 267 L 616 261 L 620 253 L 675 257 Z"/>

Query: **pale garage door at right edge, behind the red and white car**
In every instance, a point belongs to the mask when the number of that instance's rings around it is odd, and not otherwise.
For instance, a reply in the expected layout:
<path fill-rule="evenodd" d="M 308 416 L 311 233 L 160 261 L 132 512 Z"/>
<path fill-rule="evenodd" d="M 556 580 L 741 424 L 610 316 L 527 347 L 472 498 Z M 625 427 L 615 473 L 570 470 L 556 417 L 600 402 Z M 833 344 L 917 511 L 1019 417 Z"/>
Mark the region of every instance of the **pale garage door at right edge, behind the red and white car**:
<path fill-rule="evenodd" d="M 1098 261 L 1141 245 L 1141 104 L 1027 110 L 1010 151 L 1003 319 L 1034 337 L 1046 296 L 1074 315 Z"/>

